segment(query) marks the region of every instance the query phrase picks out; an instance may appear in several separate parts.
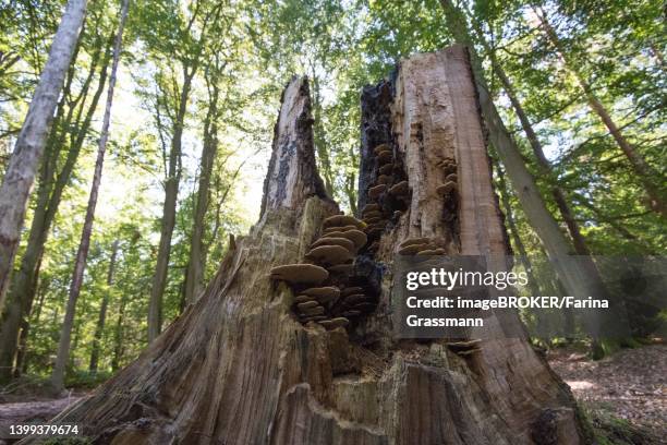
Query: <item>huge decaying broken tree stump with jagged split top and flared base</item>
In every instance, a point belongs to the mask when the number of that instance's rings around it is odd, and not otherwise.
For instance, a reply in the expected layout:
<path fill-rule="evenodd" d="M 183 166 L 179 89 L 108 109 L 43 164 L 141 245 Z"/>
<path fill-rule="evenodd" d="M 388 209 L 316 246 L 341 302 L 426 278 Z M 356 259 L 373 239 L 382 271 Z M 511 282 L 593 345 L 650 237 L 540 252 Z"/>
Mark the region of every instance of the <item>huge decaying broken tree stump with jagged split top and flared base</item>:
<path fill-rule="evenodd" d="M 324 219 L 339 212 L 315 168 L 307 82 L 294 79 L 258 224 L 196 303 L 59 421 L 113 444 L 584 442 L 567 386 L 525 338 L 502 338 L 500 324 L 468 356 L 457 350 L 465 345 L 389 334 L 392 262 L 407 240 L 425 238 L 438 253 L 507 253 L 466 51 L 404 60 L 362 103 L 357 217 L 368 241 L 348 273 L 375 289 L 374 312 L 348 311 L 347 330 L 304 325 L 296 294 L 269 279 L 275 266 L 307 262 Z"/>

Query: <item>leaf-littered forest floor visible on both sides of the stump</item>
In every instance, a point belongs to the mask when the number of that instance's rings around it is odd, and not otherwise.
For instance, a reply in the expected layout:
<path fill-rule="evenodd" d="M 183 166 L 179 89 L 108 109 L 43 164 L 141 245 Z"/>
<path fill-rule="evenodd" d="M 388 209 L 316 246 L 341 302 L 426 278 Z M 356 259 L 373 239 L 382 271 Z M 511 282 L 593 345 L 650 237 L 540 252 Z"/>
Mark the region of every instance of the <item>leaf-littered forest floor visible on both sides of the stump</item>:
<path fill-rule="evenodd" d="M 581 348 L 562 347 L 550 350 L 547 360 L 607 444 L 665 443 L 667 345 L 623 349 L 599 361 L 589 359 Z M 0 396 L 0 429 L 48 420 L 88 390 L 71 390 L 57 399 L 4 393 Z"/>

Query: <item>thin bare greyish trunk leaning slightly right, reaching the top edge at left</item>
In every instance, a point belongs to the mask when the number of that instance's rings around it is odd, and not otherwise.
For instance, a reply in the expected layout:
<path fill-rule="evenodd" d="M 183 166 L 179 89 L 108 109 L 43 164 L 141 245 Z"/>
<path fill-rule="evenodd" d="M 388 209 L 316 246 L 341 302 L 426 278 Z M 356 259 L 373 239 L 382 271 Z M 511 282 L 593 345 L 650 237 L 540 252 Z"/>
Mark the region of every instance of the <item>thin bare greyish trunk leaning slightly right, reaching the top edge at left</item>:
<path fill-rule="evenodd" d="M 64 321 L 60 330 L 60 341 L 58 344 L 58 356 L 51 374 L 51 386 L 56 392 L 64 389 L 64 371 L 65 363 L 70 357 L 70 339 L 74 315 L 76 312 L 76 300 L 81 293 L 81 285 L 83 284 L 84 272 L 88 257 L 88 249 L 90 246 L 90 236 L 93 233 L 93 222 L 95 219 L 95 207 L 97 206 L 97 195 L 99 192 L 99 183 L 101 182 L 102 167 L 105 164 L 105 154 L 107 152 L 107 141 L 109 139 L 109 124 L 111 122 L 111 105 L 113 103 L 113 88 L 116 87 L 116 74 L 118 63 L 120 61 L 121 44 L 123 40 L 123 28 L 125 19 L 128 17 L 129 0 L 123 0 L 118 24 L 118 33 L 116 35 L 116 44 L 113 45 L 113 62 L 111 64 L 111 75 L 109 77 L 109 88 L 107 91 L 107 104 L 105 107 L 105 116 L 102 119 L 102 128 L 97 147 L 97 159 L 95 161 L 95 172 L 93 173 L 93 184 L 90 185 L 90 195 L 88 196 L 88 206 L 81 233 L 81 242 L 76 252 L 74 262 L 74 273 L 70 285 L 70 296 L 65 310 Z"/>

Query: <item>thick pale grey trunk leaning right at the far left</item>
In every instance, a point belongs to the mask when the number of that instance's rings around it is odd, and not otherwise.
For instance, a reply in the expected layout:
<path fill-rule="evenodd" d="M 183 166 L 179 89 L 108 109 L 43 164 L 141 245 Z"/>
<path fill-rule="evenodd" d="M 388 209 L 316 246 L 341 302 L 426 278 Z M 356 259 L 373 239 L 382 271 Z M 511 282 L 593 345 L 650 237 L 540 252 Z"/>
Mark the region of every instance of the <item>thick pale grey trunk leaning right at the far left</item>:
<path fill-rule="evenodd" d="M 4 306 L 28 195 L 85 12 L 86 0 L 68 2 L 0 187 L 0 310 Z"/>

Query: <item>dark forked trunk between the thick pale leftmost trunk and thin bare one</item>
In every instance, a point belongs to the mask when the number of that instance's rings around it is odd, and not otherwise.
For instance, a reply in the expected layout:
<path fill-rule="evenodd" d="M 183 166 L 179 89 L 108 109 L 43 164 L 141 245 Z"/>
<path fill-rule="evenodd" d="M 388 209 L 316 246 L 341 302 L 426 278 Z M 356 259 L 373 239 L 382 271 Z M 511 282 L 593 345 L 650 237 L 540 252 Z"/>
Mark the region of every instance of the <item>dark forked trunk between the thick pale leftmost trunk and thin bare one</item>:
<path fill-rule="evenodd" d="M 86 135 L 93 121 L 93 116 L 97 109 L 97 104 L 105 89 L 107 82 L 107 68 L 110 60 L 110 52 L 107 51 L 102 59 L 99 72 L 97 89 L 93 95 L 90 105 L 85 108 L 85 97 L 88 87 L 98 68 L 98 58 L 104 52 L 102 47 L 99 52 L 93 56 L 90 71 L 86 77 L 78 96 L 70 104 L 70 110 L 62 122 L 62 130 L 49 137 L 49 156 L 44 159 L 43 172 L 37 196 L 37 206 L 33 215 L 31 234 L 27 246 L 21 260 L 21 267 L 16 270 L 10 291 L 10 298 L 3 312 L 3 323 L 0 333 L 0 380 L 7 378 L 11 374 L 14 357 L 16 354 L 16 338 L 20 329 L 29 329 L 27 317 L 29 316 L 37 289 L 39 267 L 44 256 L 44 250 L 48 238 L 51 224 L 56 218 L 62 193 L 70 181 L 72 171 L 85 142 Z M 85 112 L 84 112 L 85 110 Z M 70 127 L 75 127 L 73 132 Z M 56 161 L 62 149 L 66 145 L 66 134 L 70 133 L 70 144 L 65 161 L 59 172 L 56 171 Z M 72 139 L 73 137 L 73 139 Z M 22 327 L 23 326 L 23 327 Z M 28 337 L 28 333 L 22 335 Z"/>

